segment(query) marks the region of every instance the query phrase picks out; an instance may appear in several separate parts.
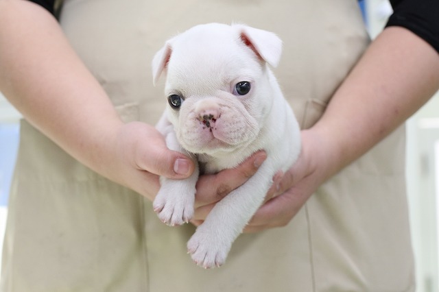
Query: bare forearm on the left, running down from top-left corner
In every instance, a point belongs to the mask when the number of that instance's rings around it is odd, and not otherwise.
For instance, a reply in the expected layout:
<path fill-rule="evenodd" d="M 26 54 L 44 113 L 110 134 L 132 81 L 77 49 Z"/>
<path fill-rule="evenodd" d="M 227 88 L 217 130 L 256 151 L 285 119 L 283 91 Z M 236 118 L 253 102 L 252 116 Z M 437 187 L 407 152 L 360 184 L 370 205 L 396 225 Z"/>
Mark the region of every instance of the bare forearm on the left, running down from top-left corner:
<path fill-rule="evenodd" d="M 54 17 L 34 3 L 0 0 L 0 91 L 41 132 L 102 171 L 103 142 L 121 120 Z"/>

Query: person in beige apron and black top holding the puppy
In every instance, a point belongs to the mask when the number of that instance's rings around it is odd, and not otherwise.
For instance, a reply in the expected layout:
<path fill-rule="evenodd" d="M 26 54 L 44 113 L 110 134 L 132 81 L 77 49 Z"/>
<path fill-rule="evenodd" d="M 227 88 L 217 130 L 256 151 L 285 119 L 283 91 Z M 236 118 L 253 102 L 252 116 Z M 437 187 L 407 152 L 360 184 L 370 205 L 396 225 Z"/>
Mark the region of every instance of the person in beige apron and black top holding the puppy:
<path fill-rule="evenodd" d="M 66 0 L 59 23 L 40 2 L 0 0 L 0 90 L 25 117 L 2 291 L 414 291 L 401 124 L 439 88 L 436 2 L 392 1 L 370 45 L 356 1 Z M 266 155 L 200 178 L 193 224 L 164 226 L 158 175 L 194 165 L 152 126 L 165 103 L 147 66 L 172 34 L 233 21 L 283 40 L 302 152 L 204 270 L 194 226 Z"/>

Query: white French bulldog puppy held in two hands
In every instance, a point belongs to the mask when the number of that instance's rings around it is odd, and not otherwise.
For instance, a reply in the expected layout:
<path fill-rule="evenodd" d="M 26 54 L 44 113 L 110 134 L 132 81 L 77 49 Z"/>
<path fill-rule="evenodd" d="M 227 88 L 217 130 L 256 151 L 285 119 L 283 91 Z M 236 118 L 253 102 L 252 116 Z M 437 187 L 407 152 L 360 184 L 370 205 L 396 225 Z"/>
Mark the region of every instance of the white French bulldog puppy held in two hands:
<path fill-rule="evenodd" d="M 165 73 L 167 106 L 156 128 L 167 147 L 197 165 L 185 180 L 161 178 L 153 207 L 169 226 L 193 216 L 200 173 L 236 167 L 259 149 L 268 158 L 246 183 L 218 202 L 187 243 L 197 265 L 219 267 L 264 201 L 274 174 L 298 158 L 300 130 L 268 64 L 282 42 L 245 25 L 198 25 L 167 40 L 152 61 L 154 84 Z"/>

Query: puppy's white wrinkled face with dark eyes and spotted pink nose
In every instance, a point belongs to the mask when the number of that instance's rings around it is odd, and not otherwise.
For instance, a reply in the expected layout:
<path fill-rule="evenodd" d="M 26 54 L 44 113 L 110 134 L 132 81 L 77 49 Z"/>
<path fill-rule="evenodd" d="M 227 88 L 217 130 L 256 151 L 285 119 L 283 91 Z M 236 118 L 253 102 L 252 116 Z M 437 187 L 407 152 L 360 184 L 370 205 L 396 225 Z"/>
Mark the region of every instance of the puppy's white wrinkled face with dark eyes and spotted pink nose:
<path fill-rule="evenodd" d="M 265 63 L 229 36 L 175 42 L 165 94 L 182 147 L 211 156 L 250 145 L 272 104 Z"/>

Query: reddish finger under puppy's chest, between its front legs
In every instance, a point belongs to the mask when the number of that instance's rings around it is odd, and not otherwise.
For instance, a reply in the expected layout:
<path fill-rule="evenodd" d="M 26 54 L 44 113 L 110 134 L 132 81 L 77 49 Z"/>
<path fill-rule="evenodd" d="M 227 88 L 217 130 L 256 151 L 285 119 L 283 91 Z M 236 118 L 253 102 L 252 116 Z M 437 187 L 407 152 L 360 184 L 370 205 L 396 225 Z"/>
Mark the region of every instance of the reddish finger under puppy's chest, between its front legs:
<path fill-rule="evenodd" d="M 234 169 L 202 175 L 196 186 L 195 208 L 220 201 L 254 175 L 266 158 L 265 151 L 258 151 Z"/>

